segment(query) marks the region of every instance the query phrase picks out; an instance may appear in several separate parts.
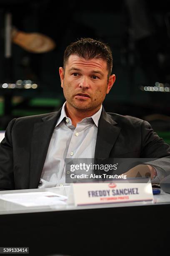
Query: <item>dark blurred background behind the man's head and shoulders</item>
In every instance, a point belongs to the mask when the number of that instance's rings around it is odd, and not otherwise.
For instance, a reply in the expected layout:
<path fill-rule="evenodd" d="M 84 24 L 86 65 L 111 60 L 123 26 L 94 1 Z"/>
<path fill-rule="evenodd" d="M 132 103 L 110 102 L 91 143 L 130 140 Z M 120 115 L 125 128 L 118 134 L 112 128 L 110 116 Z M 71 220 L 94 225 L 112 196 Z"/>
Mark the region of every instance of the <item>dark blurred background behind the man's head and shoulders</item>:
<path fill-rule="evenodd" d="M 45 34 L 54 50 L 33 54 L 12 44 L 4 57 L 5 13 L 13 26 Z M 104 102 L 107 111 L 149 120 L 159 130 L 170 128 L 170 7 L 168 0 L 99 1 L 1 0 L 0 84 L 30 79 L 36 90 L 0 88 L 0 127 L 22 115 L 54 111 L 63 103 L 58 68 L 65 47 L 81 37 L 108 43 L 117 80 Z M 15 88 L 16 89 L 16 88 Z M 13 90 L 13 92 L 12 92 Z M 4 100 L 5 99 L 5 100 Z"/>

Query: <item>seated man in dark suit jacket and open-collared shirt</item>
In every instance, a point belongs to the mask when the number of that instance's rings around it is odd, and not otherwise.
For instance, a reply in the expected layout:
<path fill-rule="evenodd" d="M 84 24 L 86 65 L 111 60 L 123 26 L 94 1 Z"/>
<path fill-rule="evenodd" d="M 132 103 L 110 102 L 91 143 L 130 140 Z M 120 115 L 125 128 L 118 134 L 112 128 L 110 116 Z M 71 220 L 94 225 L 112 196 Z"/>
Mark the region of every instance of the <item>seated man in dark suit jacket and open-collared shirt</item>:
<path fill-rule="evenodd" d="M 62 109 L 10 121 L 0 144 L 0 189 L 62 186 L 66 158 L 154 158 L 126 175 L 168 175 L 170 147 L 149 123 L 102 108 L 115 82 L 108 46 L 90 38 L 70 44 L 59 72 Z"/>

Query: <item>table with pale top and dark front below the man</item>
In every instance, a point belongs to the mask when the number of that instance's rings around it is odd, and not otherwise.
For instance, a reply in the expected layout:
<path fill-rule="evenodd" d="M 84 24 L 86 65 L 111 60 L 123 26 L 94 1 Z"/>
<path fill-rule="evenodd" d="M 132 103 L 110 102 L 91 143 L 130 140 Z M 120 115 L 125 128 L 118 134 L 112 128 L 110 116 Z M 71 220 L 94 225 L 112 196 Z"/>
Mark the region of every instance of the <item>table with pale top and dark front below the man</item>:
<path fill-rule="evenodd" d="M 40 191 L 72 195 L 69 186 L 0 194 Z M 170 194 L 163 191 L 154 195 L 153 202 L 89 206 L 25 207 L 0 200 L 1 246 L 26 246 L 33 256 L 103 256 L 113 251 L 131 256 L 162 255 L 169 250 L 169 207 Z"/>

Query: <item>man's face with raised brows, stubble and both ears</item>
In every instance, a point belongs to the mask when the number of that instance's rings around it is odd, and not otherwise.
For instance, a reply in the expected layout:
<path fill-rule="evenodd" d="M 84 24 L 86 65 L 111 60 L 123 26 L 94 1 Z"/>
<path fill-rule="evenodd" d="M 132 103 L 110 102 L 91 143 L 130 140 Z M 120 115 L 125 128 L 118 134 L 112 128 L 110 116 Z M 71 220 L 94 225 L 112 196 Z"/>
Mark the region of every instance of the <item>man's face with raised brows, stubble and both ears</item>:
<path fill-rule="evenodd" d="M 115 82 L 115 75 L 108 80 L 107 62 L 102 59 L 70 55 L 65 70 L 60 67 L 59 72 L 67 106 L 81 111 L 98 110 Z"/>

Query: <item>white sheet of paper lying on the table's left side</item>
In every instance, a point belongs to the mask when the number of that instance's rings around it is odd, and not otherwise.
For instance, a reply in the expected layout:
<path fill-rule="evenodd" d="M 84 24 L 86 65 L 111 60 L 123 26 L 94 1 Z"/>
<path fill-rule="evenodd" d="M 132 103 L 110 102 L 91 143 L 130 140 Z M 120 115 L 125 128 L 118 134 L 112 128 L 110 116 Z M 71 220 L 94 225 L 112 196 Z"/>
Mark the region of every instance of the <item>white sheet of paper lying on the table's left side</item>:
<path fill-rule="evenodd" d="M 52 192 L 2 194 L 0 199 L 24 206 L 66 205 L 67 197 Z"/>

